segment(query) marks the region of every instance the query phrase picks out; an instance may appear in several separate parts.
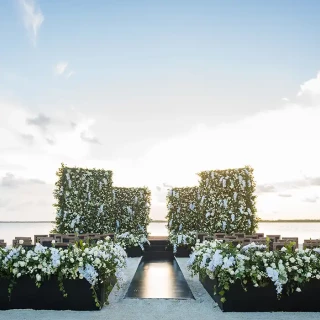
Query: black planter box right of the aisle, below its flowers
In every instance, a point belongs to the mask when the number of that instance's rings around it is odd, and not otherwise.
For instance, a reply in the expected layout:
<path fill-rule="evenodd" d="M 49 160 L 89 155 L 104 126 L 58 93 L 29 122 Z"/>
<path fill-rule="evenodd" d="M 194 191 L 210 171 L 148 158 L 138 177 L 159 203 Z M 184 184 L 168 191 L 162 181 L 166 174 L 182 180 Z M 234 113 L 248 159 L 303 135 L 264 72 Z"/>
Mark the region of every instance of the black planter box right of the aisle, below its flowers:
<path fill-rule="evenodd" d="M 290 295 L 286 294 L 284 287 L 280 300 L 273 284 L 263 288 L 247 285 L 247 291 L 244 291 L 241 283 L 236 282 L 230 286 L 230 290 L 225 290 L 226 301 L 222 303 L 219 295 L 222 289 L 219 288 L 217 280 L 211 280 L 208 276 L 199 278 L 223 312 L 320 311 L 320 280 L 312 279 L 301 288 L 301 292 L 293 292 Z M 214 294 L 214 285 L 217 285 L 217 294 Z"/>

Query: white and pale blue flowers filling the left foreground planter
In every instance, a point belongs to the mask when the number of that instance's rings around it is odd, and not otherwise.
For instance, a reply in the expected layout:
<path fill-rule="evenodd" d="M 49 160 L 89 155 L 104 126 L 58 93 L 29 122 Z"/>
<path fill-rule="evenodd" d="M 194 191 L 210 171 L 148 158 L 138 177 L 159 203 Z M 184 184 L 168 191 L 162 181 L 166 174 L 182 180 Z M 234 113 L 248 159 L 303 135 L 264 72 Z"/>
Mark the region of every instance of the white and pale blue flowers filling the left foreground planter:
<path fill-rule="evenodd" d="M 40 287 L 43 281 L 55 275 L 64 296 L 67 295 L 63 287 L 64 279 L 86 279 L 91 284 L 97 307 L 101 308 L 96 294 L 98 285 L 113 278 L 121 281 L 126 257 L 123 248 L 109 237 L 94 245 L 79 242 L 66 249 L 55 248 L 54 244 L 47 248 L 39 243 L 32 249 L 6 247 L 0 248 L 0 276 L 10 279 L 11 294 L 16 280 L 21 276 L 31 277 Z M 107 288 L 107 295 L 111 289 Z"/>

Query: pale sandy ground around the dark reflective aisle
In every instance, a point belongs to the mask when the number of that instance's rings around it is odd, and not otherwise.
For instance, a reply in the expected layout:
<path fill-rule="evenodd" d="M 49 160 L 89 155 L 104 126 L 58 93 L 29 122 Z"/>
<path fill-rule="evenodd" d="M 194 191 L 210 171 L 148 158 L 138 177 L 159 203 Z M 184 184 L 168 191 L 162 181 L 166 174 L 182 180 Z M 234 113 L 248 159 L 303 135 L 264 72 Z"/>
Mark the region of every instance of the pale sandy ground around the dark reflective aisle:
<path fill-rule="evenodd" d="M 223 313 L 203 289 L 197 278 L 187 271 L 187 258 L 178 263 L 196 300 L 123 299 L 140 258 L 128 259 L 126 281 L 114 289 L 110 304 L 100 311 L 0 311 L 0 320 L 320 320 L 319 313 Z"/>

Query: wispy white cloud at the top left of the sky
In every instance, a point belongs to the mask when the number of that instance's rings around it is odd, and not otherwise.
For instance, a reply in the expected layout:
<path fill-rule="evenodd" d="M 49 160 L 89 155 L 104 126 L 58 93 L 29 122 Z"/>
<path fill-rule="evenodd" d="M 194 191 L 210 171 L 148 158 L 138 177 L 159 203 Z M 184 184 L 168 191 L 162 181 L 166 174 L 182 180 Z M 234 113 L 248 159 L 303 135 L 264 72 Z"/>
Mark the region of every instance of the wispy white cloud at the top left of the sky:
<path fill-rule="evenodd" d="M 19 0 L 24 26 L 34 45 L 37 42 L 38 31 L 44 21 L 40 7 L 34 0 Z"/>

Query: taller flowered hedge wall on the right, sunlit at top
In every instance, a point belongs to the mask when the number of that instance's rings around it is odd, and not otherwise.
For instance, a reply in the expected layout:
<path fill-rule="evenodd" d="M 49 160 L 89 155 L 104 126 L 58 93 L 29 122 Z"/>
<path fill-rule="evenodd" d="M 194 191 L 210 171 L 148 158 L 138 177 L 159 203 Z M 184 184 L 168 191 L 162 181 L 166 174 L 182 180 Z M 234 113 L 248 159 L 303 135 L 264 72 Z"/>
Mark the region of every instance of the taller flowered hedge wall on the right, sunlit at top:
<path fill-rule="evenodd" d="M 252 234 L 258 225 L 253 169 L 203 171 L 199 174 L 203 228 L 214 232 Z"/>

